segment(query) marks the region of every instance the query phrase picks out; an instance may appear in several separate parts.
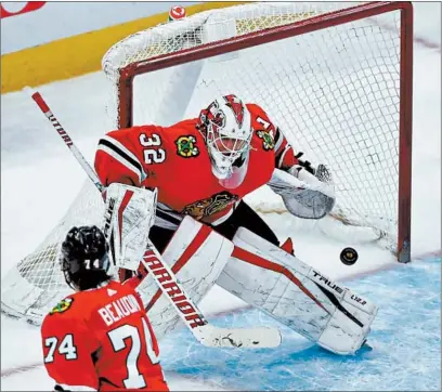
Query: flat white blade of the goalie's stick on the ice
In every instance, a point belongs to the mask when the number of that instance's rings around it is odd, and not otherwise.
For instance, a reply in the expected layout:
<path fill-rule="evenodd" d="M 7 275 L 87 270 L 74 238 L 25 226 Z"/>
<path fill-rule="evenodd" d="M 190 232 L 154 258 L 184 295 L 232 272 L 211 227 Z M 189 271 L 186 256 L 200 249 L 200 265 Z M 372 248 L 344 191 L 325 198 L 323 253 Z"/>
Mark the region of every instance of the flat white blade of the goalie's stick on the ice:
<path fill-rule="evenodd" d="M 212 348 L 273 349 L 281 344 L 277 328 L 218 328 L 211 325 L 198 327 L 198 340 Z"/>

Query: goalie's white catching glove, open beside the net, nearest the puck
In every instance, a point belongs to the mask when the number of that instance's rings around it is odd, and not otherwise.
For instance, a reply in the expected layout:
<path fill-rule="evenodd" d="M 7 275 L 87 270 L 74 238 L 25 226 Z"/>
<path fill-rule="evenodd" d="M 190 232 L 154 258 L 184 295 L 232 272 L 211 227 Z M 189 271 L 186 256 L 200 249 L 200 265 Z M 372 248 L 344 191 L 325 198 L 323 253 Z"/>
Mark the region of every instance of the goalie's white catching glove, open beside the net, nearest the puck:
<path fill-rule="evenodd" d="M 325 165 L 314 169 L 311 164 L 296 158 L 298 164 L 287 171 L 275 169 L 268 185 L 280 195 L 287 210 L 295 217 L 321 219 L 335 206 L 335 184 Z"/>

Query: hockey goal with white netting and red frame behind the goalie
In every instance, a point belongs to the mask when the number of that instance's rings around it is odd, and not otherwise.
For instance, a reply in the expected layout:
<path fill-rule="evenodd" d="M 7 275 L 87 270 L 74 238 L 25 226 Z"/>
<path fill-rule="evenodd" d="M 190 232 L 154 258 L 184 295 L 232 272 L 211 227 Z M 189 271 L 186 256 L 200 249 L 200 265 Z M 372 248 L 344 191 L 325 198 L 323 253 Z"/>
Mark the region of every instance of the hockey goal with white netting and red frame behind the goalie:
<path fill-rule="evenodd" d="M 115 127 L 196 117 L 216 95 L 261 105 L 297 152 L 327 164 L 334 220 L 410 260 L 413 10 L 407 2 L 249 3 L 140 31 L 103 57 Z M 252 197 L 263 212 L 277 196 Z M 57 260 L 75 224 L 101 223 L 86 183 L 61 223 L 2 283 L 2 310 L 40 323 L 69 290 Z"/>

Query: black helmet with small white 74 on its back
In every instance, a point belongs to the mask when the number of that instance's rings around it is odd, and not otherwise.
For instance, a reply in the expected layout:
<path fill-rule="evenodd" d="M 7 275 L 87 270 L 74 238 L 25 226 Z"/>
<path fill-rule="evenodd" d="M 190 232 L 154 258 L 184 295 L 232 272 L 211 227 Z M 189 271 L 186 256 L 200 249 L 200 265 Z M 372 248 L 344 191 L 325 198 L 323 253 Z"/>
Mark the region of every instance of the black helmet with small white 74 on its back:
<path fill-rule="evenodd" d="M 96 226 L 69 230 L 62 244 L 61 266 L 66 283 L 76 291 L 88 290 L 110 276 L 107 243 Z"/>

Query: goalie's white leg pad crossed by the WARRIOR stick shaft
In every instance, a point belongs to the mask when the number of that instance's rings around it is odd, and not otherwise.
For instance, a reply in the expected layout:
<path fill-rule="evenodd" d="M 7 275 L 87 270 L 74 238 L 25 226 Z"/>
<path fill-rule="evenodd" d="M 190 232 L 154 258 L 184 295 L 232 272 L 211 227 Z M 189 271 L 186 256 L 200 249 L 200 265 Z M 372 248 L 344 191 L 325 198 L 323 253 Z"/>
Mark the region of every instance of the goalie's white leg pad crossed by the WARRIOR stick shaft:
<path fill-rule="evenodd" d="M 185 291 L 198 303 L 213 286 L 233 251 L 233 243 L 210 227 L 185 217 L 162 253 Z M 136 288 L 158 339 L 180 322 L 171 305 L 151 276 Z"/>

